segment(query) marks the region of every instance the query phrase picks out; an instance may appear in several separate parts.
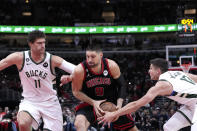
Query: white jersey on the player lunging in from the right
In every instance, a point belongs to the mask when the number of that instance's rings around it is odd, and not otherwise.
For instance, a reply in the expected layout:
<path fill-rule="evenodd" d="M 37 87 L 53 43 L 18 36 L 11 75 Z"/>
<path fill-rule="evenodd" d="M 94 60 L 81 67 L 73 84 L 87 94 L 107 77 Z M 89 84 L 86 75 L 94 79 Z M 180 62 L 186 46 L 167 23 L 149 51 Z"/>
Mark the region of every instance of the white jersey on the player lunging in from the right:
<path fill-rule="evenodd" d="M 160 81 L 168 81 L 173 92 L 168 98 L 181 104 L 193 105 L 197 102 L 197 83 L 182 71 L 167 71 L 160 75 Z"/>

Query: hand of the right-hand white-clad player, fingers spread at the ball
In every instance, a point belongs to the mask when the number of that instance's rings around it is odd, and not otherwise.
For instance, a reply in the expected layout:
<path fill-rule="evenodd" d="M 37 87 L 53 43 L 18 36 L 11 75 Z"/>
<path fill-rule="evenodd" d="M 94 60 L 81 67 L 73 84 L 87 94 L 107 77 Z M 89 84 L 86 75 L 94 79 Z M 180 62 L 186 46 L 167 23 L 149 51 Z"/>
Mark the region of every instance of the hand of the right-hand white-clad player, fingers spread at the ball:
<path fill-rule="evenodd" d="M 117 120 L 117 117 L 114 115 L 114 112 L 105 111 L 105 115 L 100 116 L 99 118 L 97 118 L 97 120 L 99 121 L 98 124 L 103 123 L 102 126 L 108 125 L 108 128 L 110 128 L 111 122 Z"/>

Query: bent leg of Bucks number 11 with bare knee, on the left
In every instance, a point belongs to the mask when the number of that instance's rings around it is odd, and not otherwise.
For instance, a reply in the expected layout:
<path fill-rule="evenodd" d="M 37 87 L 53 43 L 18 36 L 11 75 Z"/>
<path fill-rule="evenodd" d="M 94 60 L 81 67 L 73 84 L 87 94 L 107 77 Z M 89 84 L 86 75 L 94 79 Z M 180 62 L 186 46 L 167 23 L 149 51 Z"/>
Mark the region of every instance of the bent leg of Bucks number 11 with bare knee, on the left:
<path fill-rule="evenodd" d="M 33 103 L 22 101 L 19 105 L 17 121 L 20 131 L 31 131 L 31 127 L 38 129 L 40 114 Z"/>

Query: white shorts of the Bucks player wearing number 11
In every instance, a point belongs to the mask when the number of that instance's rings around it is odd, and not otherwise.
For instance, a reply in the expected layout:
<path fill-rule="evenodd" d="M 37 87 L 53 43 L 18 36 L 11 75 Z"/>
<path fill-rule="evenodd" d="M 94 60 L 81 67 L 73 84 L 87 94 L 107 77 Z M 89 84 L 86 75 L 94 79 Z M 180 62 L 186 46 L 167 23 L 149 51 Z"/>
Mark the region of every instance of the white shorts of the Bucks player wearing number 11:
<path fill-rule="evenodd" d="M 19 105 L 19 112 L 21 111 L 27 112 L 33 118 L 32 127 L 35 130 L 38 129 L 41 120 L 44 122 L 44 129 L 63 130 L 62 109 L 57 97 L 44 102 L 32 102 L 24 99 Z"/>

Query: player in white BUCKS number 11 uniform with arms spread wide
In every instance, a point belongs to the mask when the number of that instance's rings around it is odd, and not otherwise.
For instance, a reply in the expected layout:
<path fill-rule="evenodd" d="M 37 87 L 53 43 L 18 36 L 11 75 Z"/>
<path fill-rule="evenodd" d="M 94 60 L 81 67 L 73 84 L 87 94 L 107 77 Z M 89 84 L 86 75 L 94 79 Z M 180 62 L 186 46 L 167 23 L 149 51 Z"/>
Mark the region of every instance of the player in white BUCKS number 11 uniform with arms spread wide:
<path fill-rule="evenodd" d="M 31 131 L 31 126 L 37 129 L 41 118 L 44 130 L 63 130 L 62 110 L 53 89 L 54 68 L 72 73 L 75 65 L 46 52 L 45 39 L 43 32 L 32 31 L 27 40 L 29 51 L 12 53 L 0 61 L 0 70 L 16 65 L 19 71 L 24 97 L 17 115 L 20 131 Z"/>

